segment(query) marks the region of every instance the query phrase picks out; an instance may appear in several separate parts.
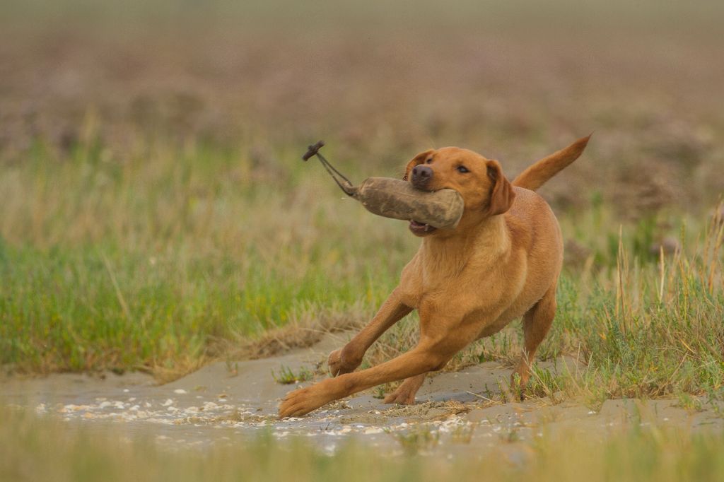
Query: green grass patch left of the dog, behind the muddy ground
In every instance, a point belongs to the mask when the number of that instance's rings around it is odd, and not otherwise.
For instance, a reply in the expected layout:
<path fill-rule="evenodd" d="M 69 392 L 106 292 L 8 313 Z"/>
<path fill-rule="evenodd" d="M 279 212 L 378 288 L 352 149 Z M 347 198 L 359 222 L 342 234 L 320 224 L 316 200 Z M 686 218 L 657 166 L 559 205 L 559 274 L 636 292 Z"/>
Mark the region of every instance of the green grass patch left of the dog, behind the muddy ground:
<path fill-rule="evenodd" d="M 390 224 L 349 200 L 341 212 L 318 203 L 313 189 L 339 198 L 329 185 L 270 178 L 275 190 L 260 192 L 237 173 L 243 157 L 218 152 L 125 165 L 80 150 L 57 163 L 35 155 L 2 168 L 0 189 L 22 202 L 3 208 L 0 363 L 173 365 L 312 309 L 375 305 L 394 286 L 395 267 L 372 254 L 389 245 Z"/>

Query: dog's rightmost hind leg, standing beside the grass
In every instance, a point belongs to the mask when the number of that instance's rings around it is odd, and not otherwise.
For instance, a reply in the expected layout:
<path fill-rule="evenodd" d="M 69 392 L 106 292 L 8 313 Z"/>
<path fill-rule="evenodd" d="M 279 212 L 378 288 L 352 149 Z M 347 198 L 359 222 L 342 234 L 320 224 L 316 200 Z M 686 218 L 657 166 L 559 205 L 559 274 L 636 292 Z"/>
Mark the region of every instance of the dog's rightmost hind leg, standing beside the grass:
<path fill-rule="evenodd" d="M 515 373 L 520 376 L 519 383 L 522 389 L 528 384 L 531 377 L 531 363 L 533 363 L 536 350 L 543 341 L 555 317 L 555 282 L 545 295 L 533 308 L 523 315 L 524 351 L 521 360 L 510 377 L 511 385 L 515 385 Z"/>

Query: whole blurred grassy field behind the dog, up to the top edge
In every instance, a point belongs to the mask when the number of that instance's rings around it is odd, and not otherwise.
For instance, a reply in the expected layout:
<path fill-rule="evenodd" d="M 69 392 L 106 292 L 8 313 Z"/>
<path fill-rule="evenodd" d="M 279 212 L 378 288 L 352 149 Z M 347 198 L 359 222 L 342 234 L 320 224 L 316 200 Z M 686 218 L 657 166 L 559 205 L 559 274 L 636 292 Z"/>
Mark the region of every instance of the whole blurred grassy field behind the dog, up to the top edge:
<path fill-rule="evenodd" d="M 498 158 L 513 177 L 594 132 L 542 189 L 567 246 L 542 356 L 582 354 L 592 378 L 578 392 L 594 405 L 721 396 L 721 4 L 0 8 L 9 370 L 163 381 L 258 354 L 250 344 L 269 330 L 287 327 L 294 344 L 320 320 L 369 318 L 418 241 L 300 161 L 319 138 L 359 181 L 400 176 L 444 145 Z M 412 317 L 371 359 L 414 331 Z M 517 334 L 458 365 L 512 360 Z"/>

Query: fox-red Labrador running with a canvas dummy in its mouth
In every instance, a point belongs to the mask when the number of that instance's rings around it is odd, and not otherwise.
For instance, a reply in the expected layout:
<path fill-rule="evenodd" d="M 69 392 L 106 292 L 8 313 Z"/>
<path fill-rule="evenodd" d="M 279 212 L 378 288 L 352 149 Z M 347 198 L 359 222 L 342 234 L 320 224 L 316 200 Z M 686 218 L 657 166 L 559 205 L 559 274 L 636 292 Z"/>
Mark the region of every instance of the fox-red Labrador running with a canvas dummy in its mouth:
<path fill-rule="evenodd" d="M 454 189 L 464 201 L 455 229 L 410 221 L 422 238 L 372 321 L 329 355 L 334 378 L 288 393 L 279 418 L 300 416 L 332 400 L 389 381 L 403 383 L 384 403 L 413 404 L 426 373 L 445 366 L 466 345 L 523 318 L 524 349 L 511 375 L 522 389 L 555 316 L 563 237 L 550 206 L 535 190 L 581 156 L 589 135 L 541 159 L 508 181 L 498 161 L 467 149 L 419 153 L 403 179 L 421 190 Z M 356 371 L 363 355 L 393 324 L 418 310 L 420 339 L 403 355 Z M 517 374 L 517 380 L 516 380 Z"/>

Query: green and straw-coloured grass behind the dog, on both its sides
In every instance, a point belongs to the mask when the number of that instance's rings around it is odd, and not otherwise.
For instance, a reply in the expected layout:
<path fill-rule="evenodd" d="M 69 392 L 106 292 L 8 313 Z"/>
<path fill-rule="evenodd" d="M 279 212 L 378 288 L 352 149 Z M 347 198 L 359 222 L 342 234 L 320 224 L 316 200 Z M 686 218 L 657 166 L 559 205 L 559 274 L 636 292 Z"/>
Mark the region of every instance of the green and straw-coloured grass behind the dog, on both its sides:
<path fill-rule="evenodd" d="M 403 223 L 340 200 L 319 166 L 297 161 L 291 149 L 268 175 L 269 166 L 253 168 L 240 150 L 150 152 L 113 158 L 91 144 L 54 160 L 38 144 L 30 161 L 1 166 L 0 193 L 12 201 L 0 207 L 0 363 L 171 379 L 329 310 L 371 316 L 416 249 Z M 589 210 L 561 216 L 566 235 L 587 252 L 561 279 L 539 355 L 573 355 L 586 369 L 565 384 L 541 379 L 530 392 L 556 385 L 593 406 L 607 397 L 721 397 L 720 225 L 670 223 L 683 249 L 660 259 L 649 245 L 670 216 L 620 232 L 613 217 L 595 195 Z M 521 347 L 514 325 L 450 369 L 512 363 Z M 366 365 L 415 339 L 410 316 Z"/>

